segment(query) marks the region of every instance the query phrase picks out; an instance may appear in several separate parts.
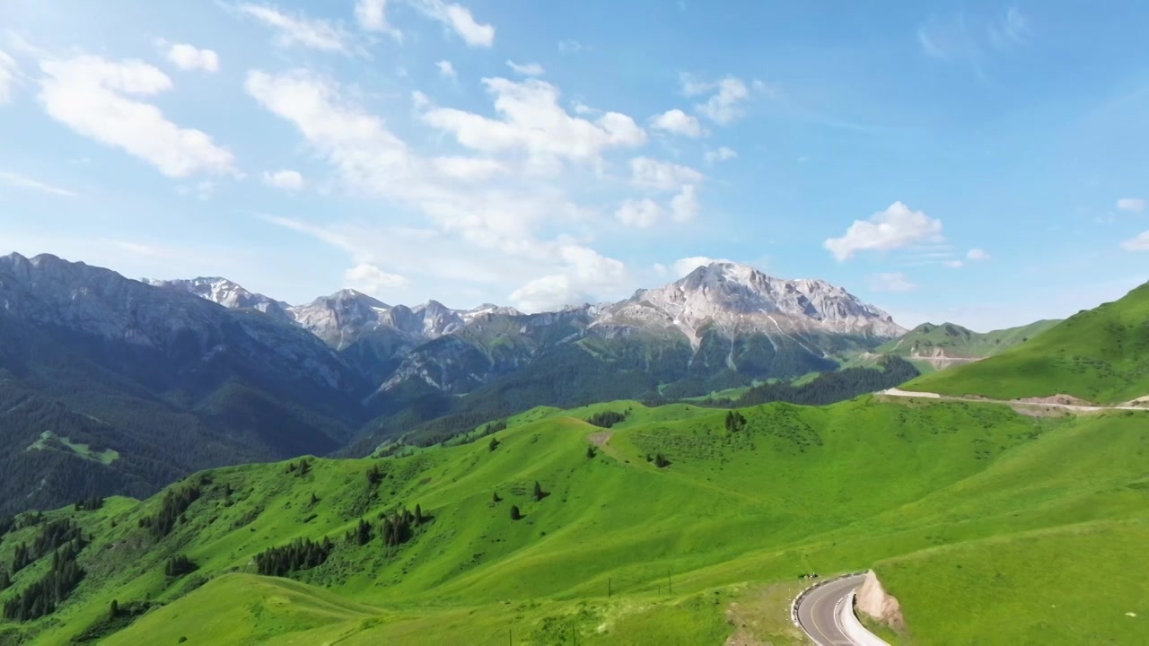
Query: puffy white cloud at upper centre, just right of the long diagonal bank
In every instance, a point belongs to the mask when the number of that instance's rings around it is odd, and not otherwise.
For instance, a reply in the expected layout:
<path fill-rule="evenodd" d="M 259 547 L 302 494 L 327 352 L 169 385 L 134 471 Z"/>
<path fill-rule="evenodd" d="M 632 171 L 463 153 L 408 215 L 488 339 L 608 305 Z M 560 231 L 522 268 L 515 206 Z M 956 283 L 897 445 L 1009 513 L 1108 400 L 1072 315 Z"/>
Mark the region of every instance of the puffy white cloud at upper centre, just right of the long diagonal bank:
<path fill-rule="evenodd" d="M 562 160 L 597 163 L 608 148 L 646 143 L 646 132 L 624 114 L 606 113 L 594 122 L 571 116 L 558 105 L 558 89 L 543 80 L 484 78 L 483 84 L 502 118 L 432 107 L 422 121 L 475 151 L 523 151 L 537 169 L 554 170 Z"/>

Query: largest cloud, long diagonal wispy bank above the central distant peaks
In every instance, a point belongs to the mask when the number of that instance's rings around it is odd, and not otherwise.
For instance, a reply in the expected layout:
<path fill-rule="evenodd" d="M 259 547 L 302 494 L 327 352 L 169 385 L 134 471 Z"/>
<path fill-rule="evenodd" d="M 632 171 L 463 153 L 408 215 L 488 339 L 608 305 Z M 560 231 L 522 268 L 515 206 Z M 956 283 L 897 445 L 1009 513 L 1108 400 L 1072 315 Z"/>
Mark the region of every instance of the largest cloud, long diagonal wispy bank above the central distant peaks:
<path fill-rule="evenodd" d="M 424 157 L 326 77 L 302 70 L 279 75 L 252 71 L 245 86 L 261 106 L 293 123 L 347 189 L 395 206 L 383 209 L 386 216 L 377 220 L 368 216 L 315 225 L 265 217 L 268 222 L 345 249 L 353 264 L 385 266 L 409 279 L 422 276 L 464 292 L 471 289 L 468 285 L 504 287 L 504 293 L 514 292 L 514 305 L 522 309 L 588 294 L 622 298 L 633 289 L 626 284 L 622 262 L 584 246 L 589 238 L 576 241 L 555 233 L 563 222 L 593 220 L 588 220 L 593 209 L 574 203 L 566 194 L 568 183 L 540 182 L 522 172 L 530 163 L 523 152 L 527 156 L 541 151 L 589 159 L 604 146 L 620 145 L 618 134 L 625 131 L 619 129 L 620 121 L 571 125 L 563 120 L 572 117 L 558 110 L 553 99 L 543 101 L 541 108 L 531 101 L 508 105 L 500 103 L 504 97 L 494 92 L 496 106 L 501 106 L 496 109 L 507 121 L 450 113 L 452 120 L 461 122 L 479 120 L 472 124 L 477 133 L 494 131 L 494 143 L 480 139 L 468 146 L 484 148 L 487 155 Z M 539 122 L 547 133 L 565 133 L 571 146 L 586 145 L 589 134 L 591 148 L 576 154 L 535 139 L 535 122 L 522 111 L 531 113 L 532 108 L 541 109 L 547 118 L 560 117 L 557 123 Z M 468 137 L 462 139 L 470 141 Z M 494 157 L 498 153 L 504 156 Z M 425 223 L 404 223 L 407 217 L 422 217 Z M 524 276 L 540 274 L 543 277 L 539 280 L 523 284 Z"/>

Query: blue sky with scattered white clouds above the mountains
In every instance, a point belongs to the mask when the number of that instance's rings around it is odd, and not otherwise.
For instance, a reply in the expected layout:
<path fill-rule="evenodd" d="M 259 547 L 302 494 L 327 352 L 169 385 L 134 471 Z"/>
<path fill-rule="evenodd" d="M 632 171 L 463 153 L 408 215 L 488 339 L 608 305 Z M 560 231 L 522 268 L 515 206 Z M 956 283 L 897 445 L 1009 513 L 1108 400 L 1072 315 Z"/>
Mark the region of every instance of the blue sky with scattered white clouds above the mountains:
<path fill-rule="evenodd" d="M 709 260 L 913 326 L 1149 279 L 1149 6 L 0 1 L 0 254 L 527 312 Z"/>

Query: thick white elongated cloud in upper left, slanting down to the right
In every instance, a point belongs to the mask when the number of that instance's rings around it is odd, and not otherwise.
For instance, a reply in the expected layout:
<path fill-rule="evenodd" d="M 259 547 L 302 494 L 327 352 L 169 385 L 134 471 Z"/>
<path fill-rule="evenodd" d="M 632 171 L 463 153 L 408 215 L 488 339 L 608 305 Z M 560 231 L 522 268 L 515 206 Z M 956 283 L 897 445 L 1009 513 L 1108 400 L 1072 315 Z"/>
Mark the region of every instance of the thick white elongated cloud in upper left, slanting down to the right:
<path fill-rule="evenodd" d="M 169 177 L 237 174 L 232 153 L 211 137 L 179 128 L 155 106 L 128 98 L 171 89 L 171 79 L 155 67 L 78 55 L 41 61 L 40 69 L 40 102 L 77 133 L 126 151 Z"/>

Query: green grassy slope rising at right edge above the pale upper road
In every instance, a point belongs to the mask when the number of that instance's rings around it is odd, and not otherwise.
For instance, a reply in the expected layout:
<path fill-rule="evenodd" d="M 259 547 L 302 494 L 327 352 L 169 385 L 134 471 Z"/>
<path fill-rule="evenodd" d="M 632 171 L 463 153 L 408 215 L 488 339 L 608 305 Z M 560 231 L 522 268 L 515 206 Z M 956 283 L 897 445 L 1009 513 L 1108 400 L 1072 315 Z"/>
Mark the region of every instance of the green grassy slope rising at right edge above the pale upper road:
<path fill-rule="evenodd" d="M 1071 394 L 1118 403 L 1149 394 L 1149 284 L 997 356 L 925 375 L 904 390 L 995 399 Z"/>

